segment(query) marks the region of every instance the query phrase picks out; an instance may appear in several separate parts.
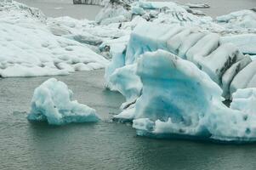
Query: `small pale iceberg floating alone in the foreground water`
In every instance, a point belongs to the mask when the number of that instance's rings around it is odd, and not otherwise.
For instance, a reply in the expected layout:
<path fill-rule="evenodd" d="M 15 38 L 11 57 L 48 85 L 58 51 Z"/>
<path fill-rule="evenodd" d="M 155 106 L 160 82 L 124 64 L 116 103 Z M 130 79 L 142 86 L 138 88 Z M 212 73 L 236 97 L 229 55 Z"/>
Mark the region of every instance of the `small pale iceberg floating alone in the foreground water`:
<path fill-rule="evenodd" d="M 100 120 L 94 109 L 72 100 L 72 91 L 64 82 L 54 78 L 48 79 L 35 89 L 27 119 L 53 125 Z"/>

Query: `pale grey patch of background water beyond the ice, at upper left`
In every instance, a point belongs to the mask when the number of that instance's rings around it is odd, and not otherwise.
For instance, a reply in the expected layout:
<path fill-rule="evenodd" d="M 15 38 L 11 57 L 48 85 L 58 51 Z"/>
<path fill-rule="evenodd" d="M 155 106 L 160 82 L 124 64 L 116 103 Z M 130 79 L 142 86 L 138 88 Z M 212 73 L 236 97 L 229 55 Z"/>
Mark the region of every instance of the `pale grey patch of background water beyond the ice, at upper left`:
<path fill-rule="evenodd" d="M 95 5 L 73 5 L 73 0 L 15 0 L 30 7 L 40 8 L 49 17 L 70 16 L 76 19 L 94 20 L 101 7 Z"/>

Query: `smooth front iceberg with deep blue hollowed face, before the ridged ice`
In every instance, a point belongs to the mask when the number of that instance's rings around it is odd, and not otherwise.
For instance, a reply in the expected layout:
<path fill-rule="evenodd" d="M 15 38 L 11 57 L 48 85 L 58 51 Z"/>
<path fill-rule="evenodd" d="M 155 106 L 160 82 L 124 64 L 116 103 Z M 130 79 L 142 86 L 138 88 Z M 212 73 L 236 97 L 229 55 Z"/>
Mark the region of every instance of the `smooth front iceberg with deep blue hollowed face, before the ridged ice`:
<path fill-rule="evenodd" d="M 142 95 L 134 110 L 122 116 L 133 117 L 139 135 L 256 140 L 254 89 L 234 94 L 230 109 L 222 103 L 221 88 L 206 73 L 163 50 L 143 54 L 137 74 Z"/>

